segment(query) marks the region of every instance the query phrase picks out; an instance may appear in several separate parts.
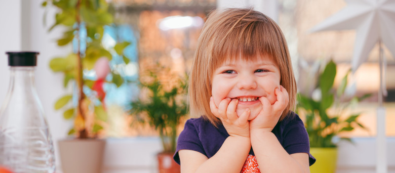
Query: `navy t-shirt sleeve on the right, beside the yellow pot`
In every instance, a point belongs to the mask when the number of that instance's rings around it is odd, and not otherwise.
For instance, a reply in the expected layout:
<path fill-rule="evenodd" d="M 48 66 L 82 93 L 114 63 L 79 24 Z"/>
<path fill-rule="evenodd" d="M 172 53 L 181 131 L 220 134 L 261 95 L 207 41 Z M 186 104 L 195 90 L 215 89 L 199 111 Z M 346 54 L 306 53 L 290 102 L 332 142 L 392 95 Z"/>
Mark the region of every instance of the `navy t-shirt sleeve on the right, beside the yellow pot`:
<path fill-rule="evenodd" d="M 310 154 L 309 135 L 298 115 L 295 115 L 293 119 L 285 125 L 282 136 L 284 139 L 282 146 L 288 154 L 307 153 L 309 154 L 310 166 L 316 162 L 316 159 Z"/>

